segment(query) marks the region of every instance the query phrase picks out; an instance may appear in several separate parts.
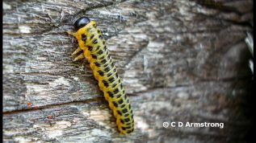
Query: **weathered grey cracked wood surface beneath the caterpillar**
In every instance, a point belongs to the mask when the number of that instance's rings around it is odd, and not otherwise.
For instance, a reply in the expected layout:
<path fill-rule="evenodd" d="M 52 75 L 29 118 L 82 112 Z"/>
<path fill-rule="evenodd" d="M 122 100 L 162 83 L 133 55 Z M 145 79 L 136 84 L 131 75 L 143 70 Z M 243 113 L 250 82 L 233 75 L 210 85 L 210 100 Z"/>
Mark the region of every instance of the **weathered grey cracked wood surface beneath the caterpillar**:
<path fill-rule="evenodd" d="M 117 133 L 86 60 L 70 57 L 78 45 L 65 31 L 82 15 L 103 30 L 124 79 L 136 122 L 129 137 Z M 246 142 L 252 25 L 252 0 L 4 1 L 3 140 Z"/>

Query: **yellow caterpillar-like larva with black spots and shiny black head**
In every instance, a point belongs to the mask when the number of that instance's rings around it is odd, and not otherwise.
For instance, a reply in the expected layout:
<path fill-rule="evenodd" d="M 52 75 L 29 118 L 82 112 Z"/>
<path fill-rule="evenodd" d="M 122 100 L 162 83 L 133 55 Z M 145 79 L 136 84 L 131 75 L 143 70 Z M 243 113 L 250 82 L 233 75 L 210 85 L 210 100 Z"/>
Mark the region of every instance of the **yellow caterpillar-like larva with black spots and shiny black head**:
<path fill-rule="evenodd" d="M 132 133 L 134 120 L 131 104 L 121 79 L 117 75 L 102 32 L 96 26 L 96 22 L 90 21 L 87 17 L 78 18 L 73 26 L 76 32 L 68 31 L 68 33 L 78 39 L 79 47 L 72 55 L 77 55 L 82 51 L 82 54 L 78 55 L 74 61 L 86 57 L 95 79 L 99 81 L 99 88 L 103 91 L 114 113 L 118 130 L 122 134 Z"/>

